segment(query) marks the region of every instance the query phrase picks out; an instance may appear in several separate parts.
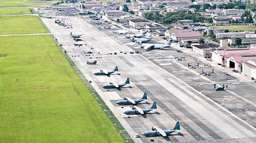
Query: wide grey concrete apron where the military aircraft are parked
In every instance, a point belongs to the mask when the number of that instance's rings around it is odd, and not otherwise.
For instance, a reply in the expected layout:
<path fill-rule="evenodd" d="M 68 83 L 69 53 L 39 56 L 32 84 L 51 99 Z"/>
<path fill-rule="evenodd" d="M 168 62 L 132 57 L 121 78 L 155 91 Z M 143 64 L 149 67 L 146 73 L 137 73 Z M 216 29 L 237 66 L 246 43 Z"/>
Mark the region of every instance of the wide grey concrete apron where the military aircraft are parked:
<path fill-rule="evenodd" d="M 212 67 L 187 68 L 187 63 L 203 64 L 203 61 L 195 61 L 195 57 L 171 50 L 146 52 L 137 49 L 138 45 L 129 42 L 124 35 L 114 34 L 112 31 L 115 26 L 111 26 L 111 29 L 101 28 L 102 31 L 99 31 L 81 18 L 64 19 L 73 23 L 72 29 L 55 24 L 55 19 L 42 18 L 42 21 L 63 45 L 84 76 L 92 81 L 92 86 L 135 142 L 150 142 L 152 138 L 156 142 L 255 142 L 256 88 L 253 83 L 227 76 L 216 68 L 214 71 L 217 75 L 199 77 L 202 69 L 211 71 Z M 69 36 L 70 31 L 73 34 L 84 34 L 81 37 L 83 41 L 75 42 Z M 83 46 L 74 46 L 74 43 L 82 43 Z M 94 54 L 89 56 L 84 54 L 84 51 L 92 51 Z M 128 53 L 119 53 L 120 51 L 128 51 Z M 140 54 L 129 54 L 129 51 L 140 51 Z M 96 55 L 98 52 L 101 54 Z M 116 55 L 113 54 L 115 52 Z M 183 61 L 176 61 L 175 56 L 186 58 Z M 97 60 L 96 65 L 86 64 L 87 61 L 94 60 Z M 110 77 L 93 75 L 100 69 L 111 70 L 116 65 L 119 74 L 111 74 Z M 108 82 L 123 83 L 127 77 L 130 78 L 131 84 L 120 90 L 106 90 L 101 87 Z M 215 91 L 214 83 L 219 86 L 223 83 L 229 84 L 229 91 Z M 121 108 L 115 104 L 117 100 L 126 96 L 139 99 L 143 96 L 143 92 L 148 93 L 148 101 L 138 106 L 150 108 L 156 101 L 158 105 L 156 112 L 131 115 L 128 118 L 123 112 L 131 109 L 131 105 L 124 105 L 124 108 Z M 151 130 L 154 125 L 164 130 L 172 129 L 177 121 L 180 122 L 181 133 L 175 132 L 165 138 L 144 136 L 135 138 L 135 133 L 141 135 L 144 131 Z"/>

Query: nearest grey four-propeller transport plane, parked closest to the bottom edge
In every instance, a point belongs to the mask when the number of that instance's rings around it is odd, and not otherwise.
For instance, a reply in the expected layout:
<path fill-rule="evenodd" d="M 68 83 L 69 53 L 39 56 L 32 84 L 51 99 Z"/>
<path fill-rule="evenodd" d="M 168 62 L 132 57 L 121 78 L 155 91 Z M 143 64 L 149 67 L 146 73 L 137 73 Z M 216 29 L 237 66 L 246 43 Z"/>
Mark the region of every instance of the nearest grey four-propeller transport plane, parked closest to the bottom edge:
<path fill-rule="evenodd" d="M 164 136 L 170 135 L 173 132 L 180 132 L 180 126 L 179 122 L 176 123 L 173 129 L 170 130 L 162 130 L 161 128 L 158 128 L 157 126 L 152 127 L 152 131 L 146 131 L 142 135 L 145 135 L 145 137 L 149 136 Z"/>

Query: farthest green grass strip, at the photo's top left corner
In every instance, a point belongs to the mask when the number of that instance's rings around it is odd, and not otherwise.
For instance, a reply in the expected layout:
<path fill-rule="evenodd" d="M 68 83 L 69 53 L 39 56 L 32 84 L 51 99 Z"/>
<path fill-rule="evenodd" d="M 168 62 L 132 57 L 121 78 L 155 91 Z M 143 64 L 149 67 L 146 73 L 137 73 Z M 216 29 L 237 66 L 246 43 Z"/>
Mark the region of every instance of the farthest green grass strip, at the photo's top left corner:
<path fill-rule="evenodd" d="M 0 7 L 10 6 L 28 6 L 34 8 L 49 7 L 53 3 L 57 3 L 60 0 L 0 0 Z"/>

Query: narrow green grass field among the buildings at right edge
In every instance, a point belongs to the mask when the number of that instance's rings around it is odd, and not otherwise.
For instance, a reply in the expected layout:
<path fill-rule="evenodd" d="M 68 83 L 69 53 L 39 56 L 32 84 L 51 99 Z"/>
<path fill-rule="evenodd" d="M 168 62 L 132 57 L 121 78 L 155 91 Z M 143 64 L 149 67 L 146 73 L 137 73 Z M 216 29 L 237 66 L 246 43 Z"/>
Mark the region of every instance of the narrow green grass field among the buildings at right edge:
<path fill-rule="evenodd" d="M 211 26 L 212 28 L 227 28 L 229 31 L 255 31 L 255 26 Z"/>

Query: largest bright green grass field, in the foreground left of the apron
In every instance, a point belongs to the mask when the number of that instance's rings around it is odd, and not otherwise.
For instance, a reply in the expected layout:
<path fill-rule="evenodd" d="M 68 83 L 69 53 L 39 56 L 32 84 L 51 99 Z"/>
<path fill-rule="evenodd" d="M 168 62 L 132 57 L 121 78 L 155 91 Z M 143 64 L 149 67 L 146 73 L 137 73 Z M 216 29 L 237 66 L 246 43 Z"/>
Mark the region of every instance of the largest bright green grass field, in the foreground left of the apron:
<path fill-rule="evenodd" d="M 0 143 L 124 142 L 50 36 L 0 45 Z"/>

